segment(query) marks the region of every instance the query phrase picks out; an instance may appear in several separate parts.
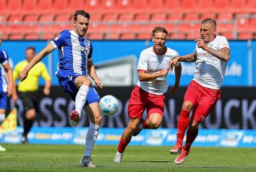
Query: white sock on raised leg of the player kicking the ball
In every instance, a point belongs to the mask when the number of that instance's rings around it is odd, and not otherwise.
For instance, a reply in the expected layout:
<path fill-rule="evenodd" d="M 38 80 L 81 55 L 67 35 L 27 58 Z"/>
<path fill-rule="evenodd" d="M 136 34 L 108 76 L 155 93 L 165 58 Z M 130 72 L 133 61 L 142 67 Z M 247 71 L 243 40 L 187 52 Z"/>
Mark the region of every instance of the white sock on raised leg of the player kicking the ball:
<path fill-rule="evenodd" d="M 82 85 L 76 94 L 76 110 L 81 114 L 81 110 L 84 108 L 87 94 L 90 88 L 87 85 Z"/>

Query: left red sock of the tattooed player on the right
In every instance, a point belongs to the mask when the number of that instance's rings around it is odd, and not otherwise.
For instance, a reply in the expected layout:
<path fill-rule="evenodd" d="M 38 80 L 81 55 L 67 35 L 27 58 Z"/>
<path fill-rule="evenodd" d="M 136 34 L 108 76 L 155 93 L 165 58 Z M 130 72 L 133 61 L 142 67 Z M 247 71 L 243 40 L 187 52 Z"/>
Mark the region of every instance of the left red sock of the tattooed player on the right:
<path fill-rule="evenodd" d="M 182 145 L 184 134 L 189 124 L 189 111 L 181 110 L 177 125 L 177 143 Z"/>

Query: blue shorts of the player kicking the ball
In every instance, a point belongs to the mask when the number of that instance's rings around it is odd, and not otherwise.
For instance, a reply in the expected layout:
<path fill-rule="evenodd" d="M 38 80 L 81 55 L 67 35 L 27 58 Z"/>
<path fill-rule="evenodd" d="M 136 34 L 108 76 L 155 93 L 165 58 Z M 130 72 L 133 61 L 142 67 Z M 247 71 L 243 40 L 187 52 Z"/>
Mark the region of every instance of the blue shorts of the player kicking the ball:
<path fill-rule="evenodd" d="M 68 76 L 67 77 L 58 76 L 58 82 L 60 83 L 60 86 L 63 88 L 65 92 L 67 92 L 70 95 L 72 100 L 75 102 L 76 102 L 76 94 L 78 92 L 76 85 L 74 83 L 76 77 L 73 77 L 72 80 L 70 80 L 70 77 Z M 87 99 L 84 106 L 87 106 L 88 104 L 99 102 L 99 101 L 100 101 L 99 94 L 94 89 L 94 87 L 91 87 L 87 94 Z"/>

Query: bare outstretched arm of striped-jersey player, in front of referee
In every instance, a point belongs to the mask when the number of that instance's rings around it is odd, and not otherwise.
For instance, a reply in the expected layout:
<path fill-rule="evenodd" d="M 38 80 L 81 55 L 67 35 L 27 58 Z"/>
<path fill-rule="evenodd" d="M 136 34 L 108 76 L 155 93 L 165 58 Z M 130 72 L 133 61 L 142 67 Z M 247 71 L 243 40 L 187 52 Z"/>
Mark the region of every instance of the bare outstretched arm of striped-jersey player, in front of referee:
<path fill-rule="evenodd" d="M 33 68 L 33 66 L 35 66 L 38 62 L 42 61 L 42 59 L 44 59 L 44 57 L 50 54 L 54 49 L 55 48 L 53 47 L 53 45 L 49 43 L 41 52 L 36 54 L 36 56 L 33 57 L 29 64 L 22 71 L 20 71 L 18 75 L 19 81 L 22 82 L 23 80 L 25 80 L 28 76 L 29 70 Z"/>

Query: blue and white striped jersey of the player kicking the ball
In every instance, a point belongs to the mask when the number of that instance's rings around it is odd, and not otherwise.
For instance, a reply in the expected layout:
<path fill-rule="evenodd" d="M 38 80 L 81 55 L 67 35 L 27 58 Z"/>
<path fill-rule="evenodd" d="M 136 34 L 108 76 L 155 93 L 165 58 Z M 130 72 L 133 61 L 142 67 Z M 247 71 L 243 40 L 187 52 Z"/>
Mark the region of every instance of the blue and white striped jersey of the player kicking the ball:
<path fill-rule="evenodd" d="M 87 61 L 92 61 L 92 43 L 80 38 L 76 32 L 64 30 L 52 39 L 51 44 L 59 49 L 56 76 L 87 76 Z"/>

